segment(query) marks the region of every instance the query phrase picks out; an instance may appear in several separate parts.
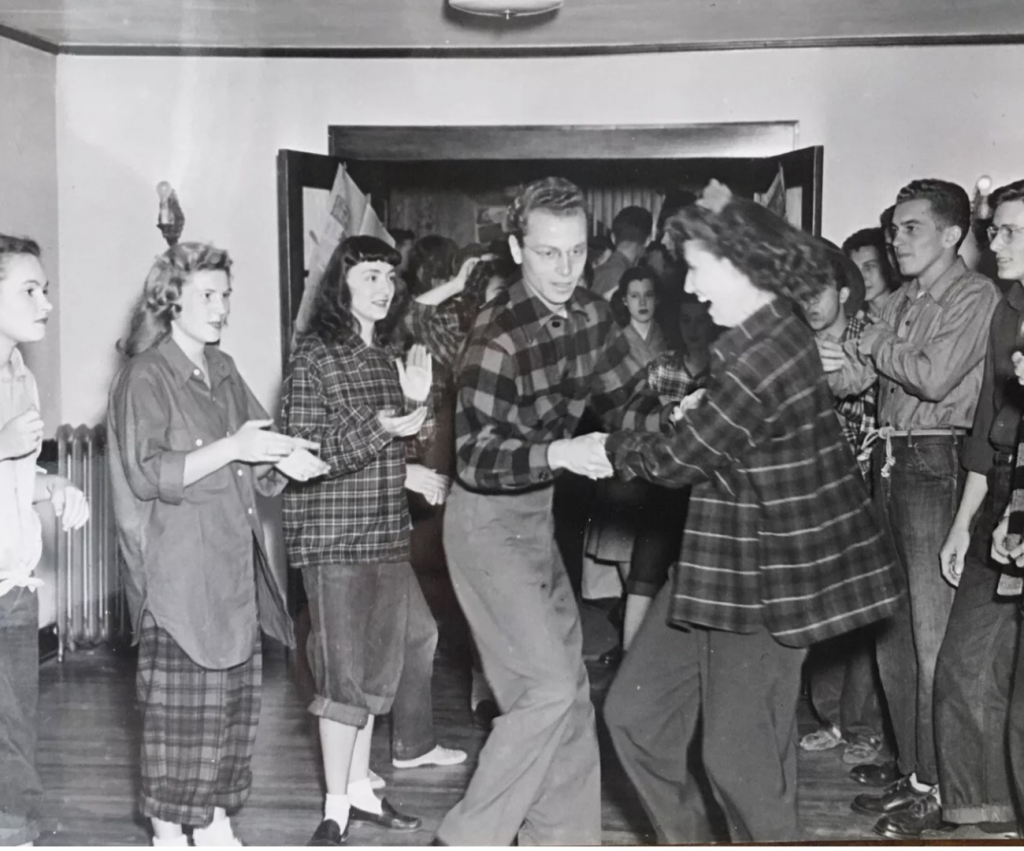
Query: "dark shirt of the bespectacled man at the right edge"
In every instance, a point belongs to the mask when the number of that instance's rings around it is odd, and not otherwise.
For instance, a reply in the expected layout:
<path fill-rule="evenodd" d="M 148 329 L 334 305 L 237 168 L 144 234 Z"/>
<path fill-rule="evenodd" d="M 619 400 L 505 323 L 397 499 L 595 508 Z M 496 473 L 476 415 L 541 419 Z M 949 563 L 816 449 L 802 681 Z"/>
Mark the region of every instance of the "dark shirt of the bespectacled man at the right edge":
<path fill-rule="evenodd" d="M 1014 373 L 1012 355 L 1024 348 L 1024 286 L 1007 290 L 992 315 L 985 353 L 984 378 L 971 436 L 964 442 L 964 467 L 986 475 L 993 451 L 1013 454 L 1024 416 L 1024 387 Z"/>

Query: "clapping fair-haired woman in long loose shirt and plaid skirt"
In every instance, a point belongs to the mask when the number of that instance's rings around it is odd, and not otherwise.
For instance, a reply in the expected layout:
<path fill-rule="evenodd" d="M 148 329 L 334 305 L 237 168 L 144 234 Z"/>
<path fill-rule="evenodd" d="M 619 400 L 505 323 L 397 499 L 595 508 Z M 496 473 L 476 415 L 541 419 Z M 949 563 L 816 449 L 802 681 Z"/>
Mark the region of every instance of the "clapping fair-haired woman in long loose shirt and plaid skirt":
<path fill-rule="evenodd" d="M 288 645 L 256 494 L 325 465 L 272 421 L 217 343 L 231 261 L 169 249 L 150 271 L 111 387 L 110 471 L 142 715 L 139 808 L 154 845 L 241 845 L 227 812 L 252 783 L 260 629 Z"/>

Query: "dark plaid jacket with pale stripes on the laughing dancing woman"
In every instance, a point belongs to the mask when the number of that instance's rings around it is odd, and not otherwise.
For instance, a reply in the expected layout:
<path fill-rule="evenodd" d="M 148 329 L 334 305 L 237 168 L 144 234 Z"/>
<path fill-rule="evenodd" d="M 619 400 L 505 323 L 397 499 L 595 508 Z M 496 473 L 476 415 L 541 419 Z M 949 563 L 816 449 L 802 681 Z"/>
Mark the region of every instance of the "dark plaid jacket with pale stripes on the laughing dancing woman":
<path fill-rule="evenodd" d="M 901 587 L 810 330 L 776 300 L 713 346 L 672 434 L 618 433 L 627 475 L 694 485 L 671 619 L 807 646 L 886 618 Z"/>

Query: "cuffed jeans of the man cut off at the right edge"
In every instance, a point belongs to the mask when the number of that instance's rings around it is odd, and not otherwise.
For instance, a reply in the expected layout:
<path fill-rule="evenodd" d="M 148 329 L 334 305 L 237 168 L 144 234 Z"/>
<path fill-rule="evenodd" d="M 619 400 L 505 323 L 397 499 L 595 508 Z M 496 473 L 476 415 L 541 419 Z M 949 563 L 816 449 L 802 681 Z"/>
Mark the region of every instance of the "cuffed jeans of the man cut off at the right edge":
<path fill-rule="evenodd" d="M 1010 499 L 1010 464 L 988 476 L 935 670 L 935 731 L 947 821 L 1015 818 L 1007 725 L 1017 650 L 1017 606 L 995 596 L 992 529 Z"/>

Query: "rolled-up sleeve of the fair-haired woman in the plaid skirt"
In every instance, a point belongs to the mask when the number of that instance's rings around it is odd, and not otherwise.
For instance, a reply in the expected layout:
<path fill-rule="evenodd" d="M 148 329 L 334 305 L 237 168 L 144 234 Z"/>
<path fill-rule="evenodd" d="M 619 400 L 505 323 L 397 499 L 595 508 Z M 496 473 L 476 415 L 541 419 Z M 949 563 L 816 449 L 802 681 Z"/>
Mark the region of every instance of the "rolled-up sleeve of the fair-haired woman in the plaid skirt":
<path fill-rule="evenodd" d="M 171 400 L 145 376 L 129 370 L 113 402 L 121 464 L 132 493 L 139 500 L 180 504 L 188 453 L 171 449 Z"/>

